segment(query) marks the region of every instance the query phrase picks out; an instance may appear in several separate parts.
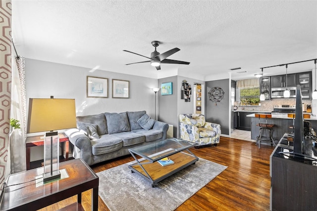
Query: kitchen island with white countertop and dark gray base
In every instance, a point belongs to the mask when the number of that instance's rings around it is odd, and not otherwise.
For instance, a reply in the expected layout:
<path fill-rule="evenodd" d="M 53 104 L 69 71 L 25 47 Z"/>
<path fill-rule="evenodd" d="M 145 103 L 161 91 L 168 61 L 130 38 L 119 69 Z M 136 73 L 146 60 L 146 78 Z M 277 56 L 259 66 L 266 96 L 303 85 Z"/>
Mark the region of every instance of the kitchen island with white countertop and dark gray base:
<path fill-rule="evenodd" d="M 261 113 L 261 112 L 259 112 Z M 257 140 L 257 136 L 259 136 L 260 127 L 257 126 L 259 123 L 259 118 L 255 117 L 254 113 L 247 115 L 247 117 L 251 118 L 251 139 Z M 313 116 L 312 116 L 313 117 Z M 305 121 L 311 123 L 311 127 L 317 131 L 317 118 L 304 118 Z M 261 122 L 265 122 L 265 119 L 260 119 Z M 272 117 L 267 119 L 268 124 L 274 124 L 272 129 L 272 137 L 274 140 L 279 141 L 285 133 L 292 132 L 292 129 L 289 126 L 293 125 L 293 118 L 289 117 Z M 264 134 L 267 136 L 268 134 Z"/>

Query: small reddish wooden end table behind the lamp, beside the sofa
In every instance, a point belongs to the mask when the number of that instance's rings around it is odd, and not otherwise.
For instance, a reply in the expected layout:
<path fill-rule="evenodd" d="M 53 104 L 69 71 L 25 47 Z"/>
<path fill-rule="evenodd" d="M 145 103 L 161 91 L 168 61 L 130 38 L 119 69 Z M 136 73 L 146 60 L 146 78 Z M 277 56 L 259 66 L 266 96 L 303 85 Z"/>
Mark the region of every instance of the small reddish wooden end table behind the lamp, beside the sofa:
<path fill-rule="evenodd" d="M 59 143 L 62 143 L 61 151 L 65 156 L 64 159 L 68 159 L 68 152 L 69 152 L 69 139 L 65 133 L 58 133 L 59 136 Z M 31 147 L 36 146 L 44 146 L 44 136 L 29 136 L 26 138 L 25 147 L 26 147 L 26 170 L 30 169 L 30 154 L 31 154 Z M 65 147 L 65 149 L 64 149 Z"/>

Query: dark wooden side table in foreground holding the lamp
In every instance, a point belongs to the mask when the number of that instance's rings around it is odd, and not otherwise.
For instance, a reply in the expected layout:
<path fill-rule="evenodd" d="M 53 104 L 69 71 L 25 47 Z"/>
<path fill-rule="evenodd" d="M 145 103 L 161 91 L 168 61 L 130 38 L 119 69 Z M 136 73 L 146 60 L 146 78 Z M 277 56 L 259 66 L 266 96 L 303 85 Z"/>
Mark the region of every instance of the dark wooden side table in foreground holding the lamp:
<path fill-rule="evenodd" d="M 66 169 L 68 177 L 39 185 L 36 176 L 43 174 L 43 167 L 9 175 L 6 180 L 0 210 L 39 210 L 71 196 L 77 195 L 77 203 L 64 210 L 84 210 L 81 206 L 81 193 L 92 191 L 92 211 L 98 211 L 99 177 L 81 158 L 59 164 Z"/>

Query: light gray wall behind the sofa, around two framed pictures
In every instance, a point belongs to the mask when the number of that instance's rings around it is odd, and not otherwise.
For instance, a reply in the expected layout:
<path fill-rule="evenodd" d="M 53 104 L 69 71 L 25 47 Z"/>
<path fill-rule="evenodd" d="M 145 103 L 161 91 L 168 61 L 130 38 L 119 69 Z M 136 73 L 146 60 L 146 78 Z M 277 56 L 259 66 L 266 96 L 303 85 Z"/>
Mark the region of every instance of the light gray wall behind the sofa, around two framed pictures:
<path fill-rule="evenodd" d="M 47 61 L 26 59 L 26 97 L 71 98 L 76 102 L 77 115 L 103 112 L 146 110 L 154 118 L 155 93 L 158 80 L 115 72 L 71 66 Z M 108 78 L 108 98 L 87 98 L 87 76 Z M 112 79 L 128 80 L 129 99 L 112 98 Z"/>

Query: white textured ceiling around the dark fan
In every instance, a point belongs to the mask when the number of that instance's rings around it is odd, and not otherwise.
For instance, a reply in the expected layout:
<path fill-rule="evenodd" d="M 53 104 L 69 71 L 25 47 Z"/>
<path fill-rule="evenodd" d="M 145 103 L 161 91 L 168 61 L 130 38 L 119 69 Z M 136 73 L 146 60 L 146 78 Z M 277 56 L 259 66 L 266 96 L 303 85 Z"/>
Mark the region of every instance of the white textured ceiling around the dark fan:
<path fill-rule="evenodd" d="M 27 58 L 151 78 L 242 79 L 317 58 L 316 11 L 317 1 L 12 0 L 12 38 Z M 123 50 L 150 57 L 154 40 L 160 53 L 180 49 L 169 59 L 191 63 L 124 65 L 147 59 Z"/>

